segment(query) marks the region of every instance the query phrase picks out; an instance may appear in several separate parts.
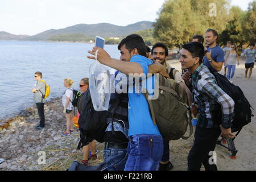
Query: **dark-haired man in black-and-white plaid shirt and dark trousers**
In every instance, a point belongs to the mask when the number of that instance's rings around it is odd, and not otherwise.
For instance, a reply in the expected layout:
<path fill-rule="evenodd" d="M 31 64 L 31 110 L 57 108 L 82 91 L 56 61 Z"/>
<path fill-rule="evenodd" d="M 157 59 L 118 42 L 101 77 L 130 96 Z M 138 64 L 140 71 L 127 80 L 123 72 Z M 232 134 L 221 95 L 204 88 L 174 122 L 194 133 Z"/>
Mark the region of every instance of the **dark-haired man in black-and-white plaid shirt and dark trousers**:
<path fill-rule="evenodd" d="M 184 44 L 181 50 L 181 68 L 192 74 L 193 98 L 191 110 L 199 111 L 196 125 L 195 143 L 188 155 L 188 170 L 200 171 L 203 164 L 207 171 L 217 171 L 216 161 L 210 160 L 216 140 L 220 134 L 234 138 L 230 129 L 234 101 L 218 85 L 209 69 L 202 63 L 204 46 L 198 42 Z M 214 159 L 214 158 L 213 158 Z"/>

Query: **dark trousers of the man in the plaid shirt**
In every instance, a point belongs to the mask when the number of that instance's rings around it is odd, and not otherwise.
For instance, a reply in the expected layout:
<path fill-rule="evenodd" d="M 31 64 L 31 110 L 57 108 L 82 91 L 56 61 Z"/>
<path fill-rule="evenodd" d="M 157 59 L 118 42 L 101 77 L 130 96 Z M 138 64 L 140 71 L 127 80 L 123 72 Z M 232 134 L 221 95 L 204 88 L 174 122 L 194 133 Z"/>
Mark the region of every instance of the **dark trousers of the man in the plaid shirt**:
<path fill-rule="evenodd" d="M 206 171 L 218 170 L 215 164 L 209 163 L 209 159 L 213 157 L 209 152 L 214 151 L 216 140 L 220 134 L 220 128 L 196 127 L 195 143 L 188 154 L 188 171 L 200 171 L 202 164 Z M 212 161 L 210 159 L 210 162 Z"/>

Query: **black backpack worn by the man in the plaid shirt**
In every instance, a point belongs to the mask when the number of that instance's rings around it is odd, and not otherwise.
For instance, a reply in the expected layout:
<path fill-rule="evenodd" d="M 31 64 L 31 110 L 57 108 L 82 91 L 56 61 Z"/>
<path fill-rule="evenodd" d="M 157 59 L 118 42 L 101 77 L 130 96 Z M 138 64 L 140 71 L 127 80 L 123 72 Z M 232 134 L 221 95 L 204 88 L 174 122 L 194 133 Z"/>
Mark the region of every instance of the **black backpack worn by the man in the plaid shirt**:
<path fill-rule="evenodd" d="M 251 113 L 251 107 L 249 101 L 246 99 L 242 90 L 239 86 L 232 84 L 228 78 L 221 75 L 214 69 L 210 69 L 217 81 L 217 85 L 231 97 L 235 103 L 234 105 L 234 119 L 232 121 L 232 131 L 239 131 L 243 126 L 248 125 L 251 122 L 251 117 L 254 115 Z M 221 108 L 218 110 L 220 114 L 217 114 L 218 122 L 221 121 L 222 111 Z M 218 123 L 221 124 L 221 123 Z"/>

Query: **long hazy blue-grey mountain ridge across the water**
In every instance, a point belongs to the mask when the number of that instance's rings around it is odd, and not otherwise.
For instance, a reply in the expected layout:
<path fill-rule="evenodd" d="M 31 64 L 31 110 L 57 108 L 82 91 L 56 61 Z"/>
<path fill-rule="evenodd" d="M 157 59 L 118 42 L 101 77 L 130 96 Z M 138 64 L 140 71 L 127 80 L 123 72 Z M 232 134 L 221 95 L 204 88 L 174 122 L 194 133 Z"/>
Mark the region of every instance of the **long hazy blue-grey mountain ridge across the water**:
<path fill-rule="evenodd" d="M 116 26 L 109 23 L 98 24 L 77 24 L 75 26 L 59 29 L 59 30 L 47 30 L 40 34 L 30 36 L 25 40 L 48 40 L 52 36 L 67 35 L 67 34 L 83 34 L 87 37 L 94 38 L 96 35 L 103 38 L 118 37 L 131 34 L 133 32 L 147 30 L 152 28 L 152 22 L 138 22 L 129 24 L 128 26 Z"/>

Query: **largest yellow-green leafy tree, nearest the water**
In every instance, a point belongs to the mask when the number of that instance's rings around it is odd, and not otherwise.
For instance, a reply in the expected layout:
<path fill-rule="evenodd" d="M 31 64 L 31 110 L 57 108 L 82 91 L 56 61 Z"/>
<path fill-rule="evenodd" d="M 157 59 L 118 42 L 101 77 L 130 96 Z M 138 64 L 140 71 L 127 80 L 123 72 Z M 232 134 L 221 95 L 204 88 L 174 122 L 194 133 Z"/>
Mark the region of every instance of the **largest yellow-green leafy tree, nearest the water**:
<path fill-rule="evenodd" d="M 216 5 L 217 16 L 209 16 L 209 5 Z M 228 0 L 169 0 L 159 11 L 154 23 L 154 37 L 169 48 L 180 47 L 192 40 L 195 34 L 204 35 L 205 30 L 224 30 L 229 20 Z"/>

